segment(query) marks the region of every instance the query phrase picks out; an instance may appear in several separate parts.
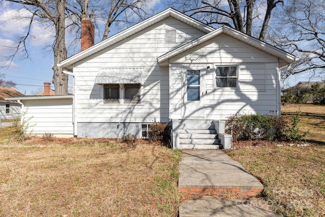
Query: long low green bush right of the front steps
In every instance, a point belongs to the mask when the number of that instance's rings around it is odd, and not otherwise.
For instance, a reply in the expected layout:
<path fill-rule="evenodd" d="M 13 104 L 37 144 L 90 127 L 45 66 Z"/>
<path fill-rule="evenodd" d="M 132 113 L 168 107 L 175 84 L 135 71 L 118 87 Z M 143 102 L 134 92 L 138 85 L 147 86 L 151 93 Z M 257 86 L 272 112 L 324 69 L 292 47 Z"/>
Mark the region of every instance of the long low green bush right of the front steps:
<path fill-rule="evenodd" d="M 307 133 L 298 128 L 299 113 L 288 117 L 262 114 L 235 114 L 225 122 L 225 132 L 233 133 L 233 140 L 300 141 Z"/>

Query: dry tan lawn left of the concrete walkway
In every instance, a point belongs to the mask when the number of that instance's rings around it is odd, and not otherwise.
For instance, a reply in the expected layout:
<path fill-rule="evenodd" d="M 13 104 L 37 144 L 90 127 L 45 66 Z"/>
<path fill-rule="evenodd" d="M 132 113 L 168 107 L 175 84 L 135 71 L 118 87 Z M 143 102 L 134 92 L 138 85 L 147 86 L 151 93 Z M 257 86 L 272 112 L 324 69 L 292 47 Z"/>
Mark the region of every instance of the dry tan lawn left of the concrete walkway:
<path fill-rule="evenodd" d="M 0 216 L 177 216 L 179 151 L 108 139 L 20 143 L 5 131 Z"/>

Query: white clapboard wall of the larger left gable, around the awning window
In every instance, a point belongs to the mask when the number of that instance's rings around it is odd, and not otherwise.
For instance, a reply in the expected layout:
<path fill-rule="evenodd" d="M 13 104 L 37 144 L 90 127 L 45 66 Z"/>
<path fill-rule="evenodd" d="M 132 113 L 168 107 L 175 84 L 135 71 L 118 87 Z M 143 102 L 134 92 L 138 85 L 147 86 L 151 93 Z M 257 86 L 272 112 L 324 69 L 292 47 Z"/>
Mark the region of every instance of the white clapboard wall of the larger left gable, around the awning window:
<path fill-rule="evenodd" d="M 165 44 L 166 29 L 176 29 L 176 44 Z M 169 69 L 157 57 L 202 35 L 170 17 L 75 64 L 78 136 L 140 135 L 141 123 L 169 122 Z M 143 68 L 142 103 L 103 103 L 103 87 L 94 83 L 100 68 Z"/>

